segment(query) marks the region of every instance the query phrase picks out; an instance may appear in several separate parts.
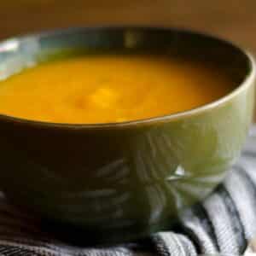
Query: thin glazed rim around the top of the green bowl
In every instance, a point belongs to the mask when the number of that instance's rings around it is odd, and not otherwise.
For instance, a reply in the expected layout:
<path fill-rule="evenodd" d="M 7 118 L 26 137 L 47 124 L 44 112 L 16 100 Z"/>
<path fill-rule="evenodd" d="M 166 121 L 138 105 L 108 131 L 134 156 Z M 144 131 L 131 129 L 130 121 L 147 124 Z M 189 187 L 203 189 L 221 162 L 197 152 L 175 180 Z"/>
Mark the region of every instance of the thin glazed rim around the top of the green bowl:
<path fill-rule="evenodd" d="M 62 28 L 62 29 L 55 29 L 55 30 L 49 30 L 49 31 L 43 31 L 43 32 L 35 32 L 35 33 L 28 33 L 23 36 L 18 36 L 14 38 L 7 38 L 3 41 L 0 41 L 0 54 L 4 52 L 4 49 L 1 49 L 1 45 L 7 44 L 12 40 L 20 41 L 24 40 L 26 38 L 43 38 L 43 37 L 50 37 L 52 35 L 61 35 L 63 33 L 68 32 L 90 32 L 90 31 L 96 31 L 96 30 L 152 30 L 152 32 L 155 31 L 165 31 L 165 32 L 178 32 L 183 34 L 188 34 L 195 37 L 200 37 L 201 40 L 204 39 L 212 39 L 215 40 L 217 43 L 226 44 L 228 47 L 236 49 L 241 52 L 242 55 L 244 55 L 247 58 L 247 61 L 250 65 L 249 72 L 245 75 L 244 79 L 242 80 L 241 84 L 238 84 L 236 89 L 231 90 L 230 93 L 228 93 L 225 96 L 222 96 L 218 98 L 218 100 L 209 102 L 207 104 L 204 104 L 197 108 L 191 108 L 186 111 L 181 111 L 177 113 L 170 113 L 165 115 L 160 115 L 157 117 L 152 117 L 148 119 L 137 119 L 137 120 L 130 120 L 125 122 L 112 122 L 112 123 L 96 123 L 96 124 L 70 124 L 70 123 L 54 123 L 54 122 L 48 122 L 48 121 L 40 121 L 40 120 L 33 120 L 33 119 L 25 119 L 25 118 L 19 118 L 15 116 L 11 116 L 8 114 L 0 113 L 0 121 L 3 119 L 18 122 L 18 123 L 24 123 L 27 125 L 40 125 L 40 126 L 48 126 L 48 127 L 56 127 L 56 128 L 68 128 L 68 129 L 92 129 L 92 128 L 119 128 L 119 127 L 131 127 L 131 126 L 138 126 L 138 125 L 151 125 L 154 123 L 162 123 L 162 122 L 171 122 L 177 119 L 183 119 L 190 116 L 198 115 L 200 113 L 205 113 L 206 111 L 211 110 L 212 108 L 218 108 L 222 105 L 224 105 L 226 102 L 229 102 L 233 98 L 235 98 L 237 95 L 241 94 L 244 90 L 247 90 L 247 87 L 253 84 L 253 80 L 256 78 L 256 62 L 253 58 L 253 55 L 247 51 L 246 49 L 241 48 L 237 44 L 231 43 L 229 40 L 226 40 L 224 38 L 216 37 L 212 34 L 208 34 L 206 32 L 198 32 L 190 29 L 183 29 L 183 28 L 177 28 L 177 27 L 166 27 L 166 26 L 74 26 L 69 28 Z"/>

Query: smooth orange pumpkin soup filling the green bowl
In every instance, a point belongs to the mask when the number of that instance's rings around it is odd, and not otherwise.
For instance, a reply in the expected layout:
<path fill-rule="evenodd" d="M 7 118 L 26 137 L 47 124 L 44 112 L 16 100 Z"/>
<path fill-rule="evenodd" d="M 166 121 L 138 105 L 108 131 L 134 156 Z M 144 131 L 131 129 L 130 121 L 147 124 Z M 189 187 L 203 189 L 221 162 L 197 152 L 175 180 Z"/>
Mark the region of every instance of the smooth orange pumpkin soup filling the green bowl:
<path fill-rule="evenodd" d="M 55 123 L 109 123 L 177 113 L 232 88 L 224 73 L 157 55 L 49 61 L 0 82 L 0 113 Z"/>

